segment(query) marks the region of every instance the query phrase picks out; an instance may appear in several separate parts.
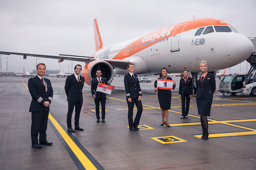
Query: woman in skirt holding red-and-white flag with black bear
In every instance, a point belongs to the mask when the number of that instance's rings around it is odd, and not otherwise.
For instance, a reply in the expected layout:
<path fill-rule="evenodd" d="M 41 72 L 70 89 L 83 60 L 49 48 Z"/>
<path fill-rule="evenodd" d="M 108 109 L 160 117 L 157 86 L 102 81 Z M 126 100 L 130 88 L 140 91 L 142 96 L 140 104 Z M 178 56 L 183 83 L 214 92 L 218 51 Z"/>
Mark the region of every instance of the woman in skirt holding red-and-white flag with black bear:
<path fill-rule="evenodd" d="M 155 86 L 154 91 L 158 91 L 158 100 L 160 104 L 160 108 L 162 109 L 162 123 L 161 126 L 164 124 L 167 127 L 170 127 L 168 122 L 169 117 L 169 109 L 171 108 L 171 99 L 172 99 L 172 91 L 175 86 L 176 82 L 172 80 L 171 77 L 167 77 L 167 69 L 163 68 L 161 71 L 162 75 L 159 79 L 157 79 L 157 86 Z M 166 118 L 166 120 L 164 119 Z"/>

